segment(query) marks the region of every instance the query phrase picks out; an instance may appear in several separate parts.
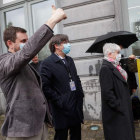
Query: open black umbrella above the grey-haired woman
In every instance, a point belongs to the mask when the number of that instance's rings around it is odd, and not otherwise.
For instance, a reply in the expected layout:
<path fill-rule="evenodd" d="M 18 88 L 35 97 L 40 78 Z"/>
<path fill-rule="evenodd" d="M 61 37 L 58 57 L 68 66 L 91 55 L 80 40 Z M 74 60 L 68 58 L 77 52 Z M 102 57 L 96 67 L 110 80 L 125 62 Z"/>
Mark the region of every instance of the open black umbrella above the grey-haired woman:
<path fill-rule="evenodd" d="M 128 48 L 136 41 L 138 41 L 138 38 L 134 33 L 127 31 L 109 32 L 99 36 L 86 53 L 103 53 L 105 43 L 115 43 L 121 45 L 123 48 Z"/>

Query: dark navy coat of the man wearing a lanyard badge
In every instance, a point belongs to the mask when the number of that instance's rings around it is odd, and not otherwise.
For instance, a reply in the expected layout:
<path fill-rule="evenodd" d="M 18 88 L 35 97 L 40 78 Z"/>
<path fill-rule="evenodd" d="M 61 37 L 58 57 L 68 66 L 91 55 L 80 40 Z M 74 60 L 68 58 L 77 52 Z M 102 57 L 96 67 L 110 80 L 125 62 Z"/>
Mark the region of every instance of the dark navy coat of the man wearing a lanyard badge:
<path fill-rule="evenodd" d="M 43 92 L 51 103 L 53 123 L 56 129 L 64 129 L 76 123 L 83 123 L 83 97 L 81 81 L 73 59 L 65 57 L 76 91 L 70 89 L 69 73 L 63 61 L 54 53 L 40 66 Z"/>

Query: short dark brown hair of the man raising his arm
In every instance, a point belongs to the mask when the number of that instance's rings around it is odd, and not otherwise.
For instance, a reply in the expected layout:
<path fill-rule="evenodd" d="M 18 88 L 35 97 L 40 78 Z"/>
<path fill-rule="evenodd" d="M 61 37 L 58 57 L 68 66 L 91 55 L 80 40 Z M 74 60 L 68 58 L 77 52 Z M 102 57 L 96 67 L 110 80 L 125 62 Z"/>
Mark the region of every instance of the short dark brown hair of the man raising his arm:
<path fill-rule="evenodd" d="M 10 40 L 15 43 L 18 32 L 26 33 L 27 31 L 23 28 L 14 26 L 10 26 L 9 28 L 5 29 L 5 31 L 3 32 L 3 40 L 7 48 L 9 48 L 9 46 L 7 45 L 7 41 Z"/>

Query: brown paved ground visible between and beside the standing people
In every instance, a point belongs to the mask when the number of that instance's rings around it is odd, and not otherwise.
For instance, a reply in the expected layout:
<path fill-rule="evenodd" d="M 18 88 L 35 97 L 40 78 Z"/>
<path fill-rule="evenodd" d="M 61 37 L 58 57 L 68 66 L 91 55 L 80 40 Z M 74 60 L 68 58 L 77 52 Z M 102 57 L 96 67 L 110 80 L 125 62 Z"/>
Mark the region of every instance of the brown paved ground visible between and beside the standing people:
<path fill-rule="evenodd" d="M 0 127 L 4 121 L 4 116 L 0 117 Z M 98 131 L 90 130 L 92 125 L 98 125 L 100 129 Z M 136 139 L 140 140 L 140 120 L 134 121 Z M 47 140 L 53 140 L 54 129 L 49 128 L 49 137 Z M 5 140 L 0 134 L 0 140 Z M 82 125 L 82 140 L 104 140 L 103 126 L 101 121 L 85 121 Z"/>

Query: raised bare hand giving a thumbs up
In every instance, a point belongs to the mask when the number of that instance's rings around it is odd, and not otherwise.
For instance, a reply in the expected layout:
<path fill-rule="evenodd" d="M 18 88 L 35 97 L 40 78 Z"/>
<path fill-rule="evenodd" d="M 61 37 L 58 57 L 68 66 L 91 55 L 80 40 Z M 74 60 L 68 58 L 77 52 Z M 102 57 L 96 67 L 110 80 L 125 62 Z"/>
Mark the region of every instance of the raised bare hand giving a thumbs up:
<path fill-rule="evenodd" d="M 57 10 L 55 9 L 55 6 L 52 5 L 52 16 L 51 18 L 47 21 L 47 25 L 53 29 L 54 26 L 59 23 L 61 20 L 66 19 L 67 16 L 63 9 L 58 8 Z"/>

